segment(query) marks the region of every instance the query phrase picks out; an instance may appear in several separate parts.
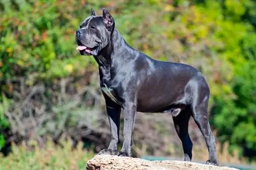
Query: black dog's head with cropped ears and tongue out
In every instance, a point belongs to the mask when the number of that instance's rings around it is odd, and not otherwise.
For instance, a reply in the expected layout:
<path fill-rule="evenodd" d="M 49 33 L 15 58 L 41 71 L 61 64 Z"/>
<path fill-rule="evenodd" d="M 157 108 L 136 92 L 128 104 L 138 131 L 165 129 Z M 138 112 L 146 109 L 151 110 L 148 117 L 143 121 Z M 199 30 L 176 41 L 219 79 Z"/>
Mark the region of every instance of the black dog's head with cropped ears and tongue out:
<path fill-rule="evenodd" d="M 114 18 L 109 11 L 103 8 L 102 16 L 97 16 L 91 9 L 91 16 L 87 17 L 76 31 L 76 50 L 81 55 L 97 56 L 110 42 L 111 33 L 115 27 Z"/>

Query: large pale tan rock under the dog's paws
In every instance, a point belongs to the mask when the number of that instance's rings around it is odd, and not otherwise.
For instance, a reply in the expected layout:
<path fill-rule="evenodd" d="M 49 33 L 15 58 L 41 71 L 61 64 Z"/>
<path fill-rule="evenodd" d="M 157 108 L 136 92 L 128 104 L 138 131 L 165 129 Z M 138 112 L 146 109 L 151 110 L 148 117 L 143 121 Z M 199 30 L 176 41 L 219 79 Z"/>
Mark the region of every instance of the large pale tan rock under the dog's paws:
<path fill-rule="evenodd" d="M 149 161 L 140 158 L 118 157 L 111 155 L 96 155 L 93 159 L 87 162 L 87 170 L 169 170 L 169 169 L 221 169 L 221 170 L 235 170 L 236 168 L 219 167 L 214 165 L 205 165 L 195 162 L 185 161 Z M 236 169 L 238 170 L 238 169 Z"/>

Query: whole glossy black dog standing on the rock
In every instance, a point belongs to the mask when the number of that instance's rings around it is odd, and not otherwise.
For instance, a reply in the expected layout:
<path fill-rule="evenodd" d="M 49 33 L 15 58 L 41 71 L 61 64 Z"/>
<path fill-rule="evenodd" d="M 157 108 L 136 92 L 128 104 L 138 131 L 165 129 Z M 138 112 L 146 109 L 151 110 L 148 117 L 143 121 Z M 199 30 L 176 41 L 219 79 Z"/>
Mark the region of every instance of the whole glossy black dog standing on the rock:
<path fill-rule="evenodd" d="M 111 141 L 99 154 L 115 154 L 119 141 L 120 110 L 123 109 L 123 145 L 118 156 L 131 156 L 136 111 L 169 113 L 182 141 L 184 160 L 191 161 L 192 142 L 188 121 L 193 116 L 209 152 L 207 164 L 218 165 L 215 138 L 208 122 L 209 87 L 196 68 L 154 60 L 129 46 L 115 29 L 114 18 L 103 8 L 76 31 L 77 50 L 93 55 L 99 66 L 100 87 L 109 116 Z"/>

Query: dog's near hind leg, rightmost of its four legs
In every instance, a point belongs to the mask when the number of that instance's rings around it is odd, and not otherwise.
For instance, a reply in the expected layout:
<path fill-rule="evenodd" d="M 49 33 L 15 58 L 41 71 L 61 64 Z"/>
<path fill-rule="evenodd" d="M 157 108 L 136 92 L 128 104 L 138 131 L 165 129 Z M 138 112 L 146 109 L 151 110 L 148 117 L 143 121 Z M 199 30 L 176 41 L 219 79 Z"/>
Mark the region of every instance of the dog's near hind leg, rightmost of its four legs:
<path fill-rule="evenodd" d="M 219 165 L 216 153 L 216 143 L 214 135 L 211 132 L 209 121 L 208 121 L 208 97 L 206 96 L 201 102 L 196 102 L 193 105 L 192 116 L 202 132 L 209 152 L 209 159 L 206 164 Z"/>

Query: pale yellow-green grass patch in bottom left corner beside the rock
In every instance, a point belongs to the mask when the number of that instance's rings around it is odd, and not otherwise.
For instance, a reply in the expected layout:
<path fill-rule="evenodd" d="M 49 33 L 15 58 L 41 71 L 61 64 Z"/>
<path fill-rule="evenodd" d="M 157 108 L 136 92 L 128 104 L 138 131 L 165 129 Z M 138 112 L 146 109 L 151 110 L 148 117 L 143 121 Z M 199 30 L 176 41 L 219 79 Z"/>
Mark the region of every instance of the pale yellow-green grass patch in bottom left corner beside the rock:
<path fill-rule="evenodd" d="M 13 144 L 8 157 L 0 157 L 0 170 L 36 170 L 36 169 L 86 169 L 86 163 L 95 153 L 82 149 L 82 143 L 72 150 L 70 141 L 62 141 L 63 148 L 56 147 L 52 142 L 46 143 L 45 149 L 28 152 L 25 144 Z"/>

